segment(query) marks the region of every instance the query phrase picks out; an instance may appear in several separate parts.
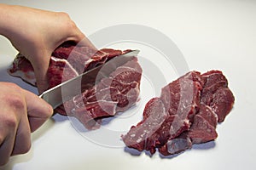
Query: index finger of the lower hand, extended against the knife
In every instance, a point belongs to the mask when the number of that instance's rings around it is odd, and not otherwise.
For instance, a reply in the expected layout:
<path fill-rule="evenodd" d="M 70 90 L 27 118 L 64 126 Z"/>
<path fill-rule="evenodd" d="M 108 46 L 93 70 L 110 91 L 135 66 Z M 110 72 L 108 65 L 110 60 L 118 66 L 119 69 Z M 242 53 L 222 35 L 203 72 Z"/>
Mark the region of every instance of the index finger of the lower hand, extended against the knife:
<path fill-rule="evenodd" d="M 31 132 L 34 132 L 52 116 L 53 109 L 44 99 L 39 98 L 37 95 L 29 91 L 25 91 L 24 93 L 26 95 L 27 116 Z"/>

